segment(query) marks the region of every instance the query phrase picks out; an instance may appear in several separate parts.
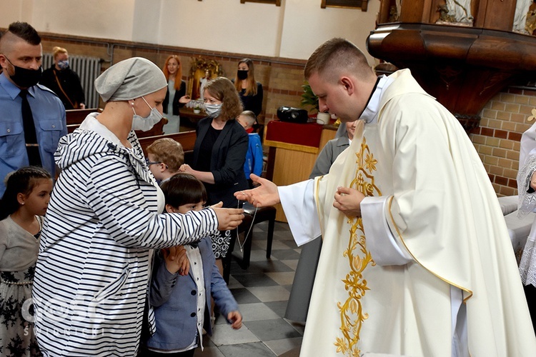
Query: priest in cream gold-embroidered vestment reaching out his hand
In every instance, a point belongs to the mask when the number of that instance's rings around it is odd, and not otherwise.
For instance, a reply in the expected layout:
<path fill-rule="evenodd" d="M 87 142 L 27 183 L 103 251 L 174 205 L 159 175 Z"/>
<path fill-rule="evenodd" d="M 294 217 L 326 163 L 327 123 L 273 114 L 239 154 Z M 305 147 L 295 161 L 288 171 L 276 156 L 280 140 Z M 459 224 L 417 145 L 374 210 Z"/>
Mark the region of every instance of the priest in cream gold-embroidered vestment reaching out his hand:
<path fill-rule="evenodd" d="M 536 356 L 497 196 L 460 123 L 409 70 L 377 78 L 332 39 L 305 76 L 320 109 L 359 119 L 329 174 L 235 193 L 281 202 L 299 245 L 324 242 L 301 356 Z"/>

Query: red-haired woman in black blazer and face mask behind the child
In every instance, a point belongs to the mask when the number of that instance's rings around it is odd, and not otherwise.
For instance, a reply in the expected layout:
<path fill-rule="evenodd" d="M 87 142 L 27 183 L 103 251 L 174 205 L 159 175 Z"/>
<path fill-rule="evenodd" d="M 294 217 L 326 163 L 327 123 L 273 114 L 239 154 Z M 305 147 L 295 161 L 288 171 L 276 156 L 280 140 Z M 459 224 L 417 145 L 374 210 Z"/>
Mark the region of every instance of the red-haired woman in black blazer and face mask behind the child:
<path fill-rule="evenodd" d="M 181 171 L 194 175 L 207 188 L 207 204 L 223 202 L 236 207 L 234 192 L 249 185 L 244 174 L 248 147 L 246 131 L 235 118 L 242 113 L 242 103 L 232 81 L 224 77 L 212 79 L 204 86 L 204 106 L 208 114 L 197 124 L 192 166 L 184 164 Z M 230 231 L 212 242 L 216 264 L 223 273 L 222 258 L 227 255 Z"/>

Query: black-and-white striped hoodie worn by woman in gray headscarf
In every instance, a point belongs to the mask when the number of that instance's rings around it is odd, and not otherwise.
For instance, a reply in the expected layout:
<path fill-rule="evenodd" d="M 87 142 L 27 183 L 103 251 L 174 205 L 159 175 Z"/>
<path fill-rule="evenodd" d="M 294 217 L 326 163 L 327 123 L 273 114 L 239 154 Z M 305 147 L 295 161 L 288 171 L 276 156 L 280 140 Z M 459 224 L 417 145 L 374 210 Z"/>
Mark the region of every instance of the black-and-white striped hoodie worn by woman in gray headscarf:
<path fill-rule="evenodd" d="M 152 248 L 217 230 L 212 209 L 157 214 L 162 191 L 134 131 L 126 149 L 94 116 L 61 138 L 55 154 L 61 174 L 33 289 L 45 356 L 136 356 Z"/>

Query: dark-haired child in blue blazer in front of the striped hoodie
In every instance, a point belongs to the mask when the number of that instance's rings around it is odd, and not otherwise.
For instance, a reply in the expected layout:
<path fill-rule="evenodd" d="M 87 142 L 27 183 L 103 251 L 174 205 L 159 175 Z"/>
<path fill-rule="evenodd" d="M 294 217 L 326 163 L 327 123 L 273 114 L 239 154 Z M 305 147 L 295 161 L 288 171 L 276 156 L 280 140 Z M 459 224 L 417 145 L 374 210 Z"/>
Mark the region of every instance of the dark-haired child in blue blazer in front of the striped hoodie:
<path fill-rule="evenodd" d="M 172 176 L 161 188 L 167 213 L 201 211 L 207 202 L 203 183 L 190 174 Z M 215 264 L 210 237 L 184 248 L 188 272 L 182 270 L 180 253 L 172 258 L 161 251 L 155 257 L 149 303 L 154 306 L 157 332 L 147 341 L 144 356 L 194 356 L 195 348 L 203 346 L 202 329 L 212 334 L 211 296 L 232 328 L 242 327 L 237 301 Z"/>

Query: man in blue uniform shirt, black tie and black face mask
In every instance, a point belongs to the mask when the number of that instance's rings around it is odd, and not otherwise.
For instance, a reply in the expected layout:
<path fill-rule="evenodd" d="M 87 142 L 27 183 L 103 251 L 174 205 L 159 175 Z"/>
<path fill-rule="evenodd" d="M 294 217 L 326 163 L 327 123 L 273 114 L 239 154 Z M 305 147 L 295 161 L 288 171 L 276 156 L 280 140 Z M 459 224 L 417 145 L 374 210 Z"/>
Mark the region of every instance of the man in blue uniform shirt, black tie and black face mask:
<path fill-rule="evenodd" d="M 54 176 L 54 151 L 67 134 L 63 104 L 54 92 L 37 84 L 42 53 L 41 37 L 25 22 L 10 24 L 1 36 L 0 196 L 6 174 L 23 166 L 43 166 Z"/>

